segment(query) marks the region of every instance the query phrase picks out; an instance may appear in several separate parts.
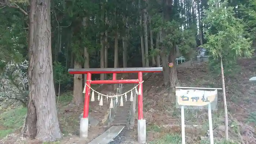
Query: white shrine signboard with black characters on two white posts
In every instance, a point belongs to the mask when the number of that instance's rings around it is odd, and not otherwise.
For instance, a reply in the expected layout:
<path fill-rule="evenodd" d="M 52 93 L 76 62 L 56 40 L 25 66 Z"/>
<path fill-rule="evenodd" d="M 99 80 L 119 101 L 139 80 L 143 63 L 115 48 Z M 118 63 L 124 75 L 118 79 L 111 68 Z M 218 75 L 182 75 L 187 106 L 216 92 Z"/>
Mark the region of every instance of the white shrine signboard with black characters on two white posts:
<path fill-rule="evenodd" d="M 181 108 L 182 144 L 185 144 L 185 114 L 186 109 L 208 109 L 210 142 L 213 141 L 211 110 L 216 109 L 218 94 L 221 88 L 176 87 L 176 107 Z"/>

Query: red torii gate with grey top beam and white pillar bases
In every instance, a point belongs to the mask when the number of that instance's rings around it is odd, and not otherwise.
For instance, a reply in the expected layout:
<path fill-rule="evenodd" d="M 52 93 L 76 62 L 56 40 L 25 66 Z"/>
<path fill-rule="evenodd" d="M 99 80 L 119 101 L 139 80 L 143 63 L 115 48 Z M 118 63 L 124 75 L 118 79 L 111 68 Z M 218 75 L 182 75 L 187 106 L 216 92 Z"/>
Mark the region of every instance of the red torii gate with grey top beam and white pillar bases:
<path fill-rule="evenodd" d="M 146 120 L 143 119 L 143 73 L 162 72 L 162 67 L 148 68 L 90 68 L 90 69 L 68 69 L 70 74 L 87 74 L 86 90 L 84 97 L 83 118 L 80 120 L 80 137 L 88 136 L 88 114 L 89 114 L 89 89 L 91 84 L 119 84 L 119 83 L 135 83 L 139 84 L 142 93 L 138 95 L 138 141 L 146 142 Z M 113 73 L 112 80 L 91 80 L 92 74 Z M 116 80 L 117 73 L 138 73 L 138 79 Z"/>

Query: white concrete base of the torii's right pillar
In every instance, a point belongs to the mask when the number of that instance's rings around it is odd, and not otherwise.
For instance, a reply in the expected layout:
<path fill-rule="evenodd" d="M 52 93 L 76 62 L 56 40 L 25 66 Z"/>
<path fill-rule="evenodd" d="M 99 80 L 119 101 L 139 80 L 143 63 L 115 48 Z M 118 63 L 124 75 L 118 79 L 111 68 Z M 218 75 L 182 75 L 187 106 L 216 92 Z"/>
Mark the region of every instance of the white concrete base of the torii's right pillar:
<path fill-rule="evenodd" d="M 145 144 L 146 139 L 146 120 L 138 120 L 138 142 L 140 144 Z"/>

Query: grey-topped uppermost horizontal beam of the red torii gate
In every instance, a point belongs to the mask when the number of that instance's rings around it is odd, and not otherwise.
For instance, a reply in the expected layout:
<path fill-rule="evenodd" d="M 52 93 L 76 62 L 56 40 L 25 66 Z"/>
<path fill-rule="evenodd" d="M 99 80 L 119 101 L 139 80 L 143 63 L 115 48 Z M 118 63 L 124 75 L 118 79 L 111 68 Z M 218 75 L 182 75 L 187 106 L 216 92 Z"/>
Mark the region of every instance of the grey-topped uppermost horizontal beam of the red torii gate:
<path fill-rule="evenodd" d="M 70 74 L 100 74 L 100 73 L 150 73 L 150 72 L 162 72 L 163 67 L 147 67 L 147 68 L 89 68 L 89 69 L 68 69 Z"/>

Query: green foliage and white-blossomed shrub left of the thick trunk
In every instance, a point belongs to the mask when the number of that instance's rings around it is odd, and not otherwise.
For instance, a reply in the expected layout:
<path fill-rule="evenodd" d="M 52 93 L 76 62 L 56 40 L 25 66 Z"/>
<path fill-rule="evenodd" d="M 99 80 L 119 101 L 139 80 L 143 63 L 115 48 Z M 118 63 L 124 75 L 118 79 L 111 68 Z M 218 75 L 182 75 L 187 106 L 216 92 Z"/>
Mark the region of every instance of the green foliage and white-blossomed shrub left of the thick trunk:
<path fill-rule="evenodd" d="M 18 4 L 18 3 L 17 3 Z M 27 16 L 0 7 L 0 101 L 27 101 Z"/>

